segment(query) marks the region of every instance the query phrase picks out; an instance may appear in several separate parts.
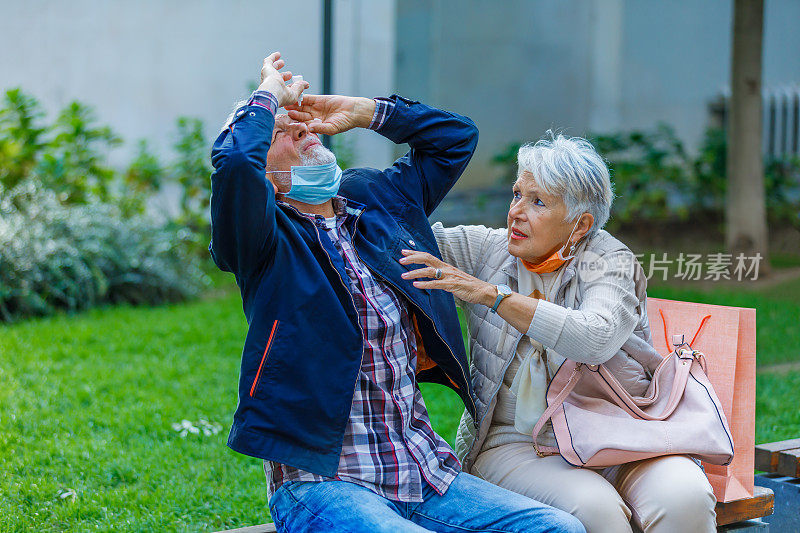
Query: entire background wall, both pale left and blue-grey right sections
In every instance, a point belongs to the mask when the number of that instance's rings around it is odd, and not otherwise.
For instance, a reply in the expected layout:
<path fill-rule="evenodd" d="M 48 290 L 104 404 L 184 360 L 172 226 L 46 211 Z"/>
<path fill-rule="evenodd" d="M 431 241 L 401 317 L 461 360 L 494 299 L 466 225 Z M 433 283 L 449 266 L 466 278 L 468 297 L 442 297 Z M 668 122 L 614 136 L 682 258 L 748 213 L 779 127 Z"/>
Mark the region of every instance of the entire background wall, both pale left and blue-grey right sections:
<path fill-rule="evenodd" d="M 334 0 L 334 91 L 399 92 L 467 114 L 481 130 L 462 185 L 494 182 L 489 159 L 547 128 L 587 131 L 667 121 L 694 145 L 706 104 L 728 82 L 729 0 Z M 0 89 L 22 86 L 51 113 L 73 99 L 126 141 L 168 156 L 175 118 L 216 134 L 280 49 L 321 91 L 322 1 L 0 0 Z M 800 81 L 800 2 L 770 0 L 765 85 Z M 360 165 L 395 153 L 372 132 L 346 136 Z"/>

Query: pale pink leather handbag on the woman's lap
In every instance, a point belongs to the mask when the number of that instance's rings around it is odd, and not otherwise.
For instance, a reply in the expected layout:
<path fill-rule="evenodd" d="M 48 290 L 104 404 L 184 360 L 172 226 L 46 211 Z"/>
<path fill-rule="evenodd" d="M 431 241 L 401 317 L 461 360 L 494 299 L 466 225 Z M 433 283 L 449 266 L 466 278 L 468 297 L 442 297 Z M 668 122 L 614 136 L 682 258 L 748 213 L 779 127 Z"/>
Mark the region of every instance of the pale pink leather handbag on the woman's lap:
<path fill-rule="evenodd" d="M 674 335 L 673 345 L 642 397 L 628 394 L 604 365 L 564 361 L 547 389 L 548 407 L 533 429 L 536 453 L 560 453 L 569 464 L 590 468 L 673 454 L 730 463 L 733 438 L 706 375 L 705 358 L 683 335 Z M 557 448 L 538 444 L 549 419 Z"/>

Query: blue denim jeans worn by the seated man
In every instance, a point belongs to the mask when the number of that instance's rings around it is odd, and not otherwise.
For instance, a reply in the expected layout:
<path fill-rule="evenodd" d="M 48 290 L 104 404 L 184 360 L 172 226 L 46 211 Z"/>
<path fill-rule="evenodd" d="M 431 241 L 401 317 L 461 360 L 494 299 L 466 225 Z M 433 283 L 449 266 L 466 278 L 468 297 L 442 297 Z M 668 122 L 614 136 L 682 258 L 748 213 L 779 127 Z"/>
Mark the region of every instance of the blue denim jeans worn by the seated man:
<path fill-rule="evenodd" d="M 571 514 L 463 472 L 443 496 L 426 486 L 423 499 L 389 500 L 346 481 L 289 481 L 269 508 L 279 533 L 585 533 Z"/>

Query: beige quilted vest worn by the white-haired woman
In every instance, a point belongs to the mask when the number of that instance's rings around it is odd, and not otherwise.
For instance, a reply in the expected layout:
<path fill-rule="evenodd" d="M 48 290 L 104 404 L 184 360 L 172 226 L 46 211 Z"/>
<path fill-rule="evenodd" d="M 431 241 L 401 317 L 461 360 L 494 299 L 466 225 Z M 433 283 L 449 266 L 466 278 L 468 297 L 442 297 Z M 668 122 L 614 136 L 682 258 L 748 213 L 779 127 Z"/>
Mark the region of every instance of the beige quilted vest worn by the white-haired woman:
<path fill-rule="evenodd" d="M 445 229 L 437 222 L 433 232 L 446 262 L 489 283 L 505 284 L 513 291 L 517 290 L 517 263 L 508 253 L 505 228 L 459 226 Z M 580 259 L 581 254 L 587 251 L 600 256 L 617 251 L 627 251 L 633 255 L 624 244 L 604 230 L 599 230 L 578 246 L 576 259 Z M 631 394 L 640 395 L 649 384 L 648 372 L 655 369 L 661 356 L 652 347 L 646 307 L 647 279 L 635 257 L 631 261 L 639 300 L 636 309 L 638 323 L 630 338 L 605 365 Z M 576 262 L 571 260 L 562 267 L 566 271 L 553 302 L 573 309 L 580 307 L 584 290 L 580 276 L 576 276 Z M 457 303 L 464 311 L 469 330 L 470 374 L 477 406 L 477 423 L 464 411 L 456 435 L 456 454 L 462 461 L 464 471 L 469 472 L 483 445 L 497 392 L 523 333 L 510 326 L 500 315 L 491 313 L 484 305 Z"/>

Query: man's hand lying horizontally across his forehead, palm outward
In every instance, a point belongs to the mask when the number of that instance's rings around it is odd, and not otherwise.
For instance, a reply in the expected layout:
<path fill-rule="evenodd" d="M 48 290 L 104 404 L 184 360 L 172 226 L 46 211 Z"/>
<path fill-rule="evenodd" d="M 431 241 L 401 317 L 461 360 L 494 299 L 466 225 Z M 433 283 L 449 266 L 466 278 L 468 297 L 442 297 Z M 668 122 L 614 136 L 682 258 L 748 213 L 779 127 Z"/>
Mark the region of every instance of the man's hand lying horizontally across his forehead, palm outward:
<path fill-rule="evenodd" d="M 355 96 L 303 96 L 300 105 L 286 106 L 289 118 L 305 122 L 313 133 L 336 135 L 353 128 L 366 128 L 375 113 L 375 100 Z"/>

